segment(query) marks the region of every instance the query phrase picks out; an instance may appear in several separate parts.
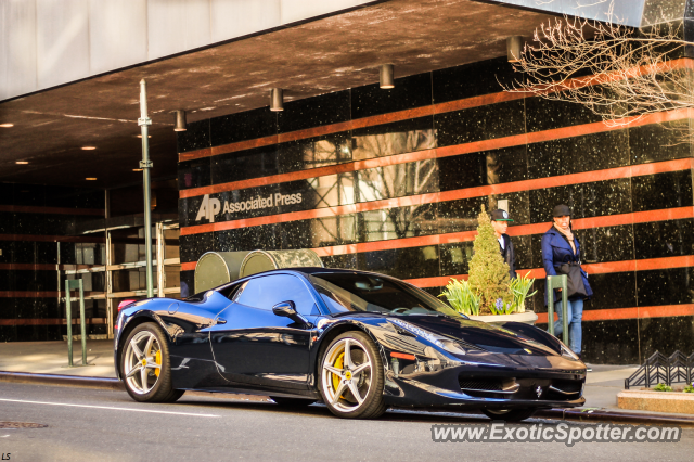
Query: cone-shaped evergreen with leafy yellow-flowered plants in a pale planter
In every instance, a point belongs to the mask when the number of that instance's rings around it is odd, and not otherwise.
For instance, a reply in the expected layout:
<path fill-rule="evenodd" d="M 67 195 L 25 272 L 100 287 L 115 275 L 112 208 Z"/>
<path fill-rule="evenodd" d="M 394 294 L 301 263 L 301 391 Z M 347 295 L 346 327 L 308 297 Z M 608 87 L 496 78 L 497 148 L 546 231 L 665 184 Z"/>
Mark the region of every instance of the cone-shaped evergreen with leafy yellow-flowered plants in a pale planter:
<path fill-rule="evenodd" d="M 453 309 L 477 321 L 535 324 L 538 316 L 525 310 L 526 298 L 535 295 L 535 292 L 528 295 L 535 279 L 528 278 L 529 272 L 513 280 L 509 278 L 509 265 L 499 252 L 499 241 L 484 205 L 474 251 L 467 281 L 451 278 L 440 296 L 446 297 Z"/>

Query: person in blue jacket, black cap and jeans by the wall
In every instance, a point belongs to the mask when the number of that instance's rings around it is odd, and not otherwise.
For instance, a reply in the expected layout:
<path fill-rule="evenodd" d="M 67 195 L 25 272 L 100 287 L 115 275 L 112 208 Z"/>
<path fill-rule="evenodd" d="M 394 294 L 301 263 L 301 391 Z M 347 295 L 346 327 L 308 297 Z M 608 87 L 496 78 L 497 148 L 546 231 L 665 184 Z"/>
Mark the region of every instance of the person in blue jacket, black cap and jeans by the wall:
<path fill-rule="evenodd" d="M 578 239 L 571 232 L 571 209 L 567 205 L 560 204 L 552 211 L 554 223 L 548 232 L 542 235 L 542 262 L 547 275 L 566 274 L 562 271 L 562 265 L 581 262 L 581 248 Z M 566 268 L 566 267 L 565 267 Z M 580 275 L 586 288 L 586 295 L 571 295 L 568 297 L 568 347 L 581 356 L 581 320 L 583 319 L 583 299 L 590 298 L 593 291 L 588 283 L 588 274 L 580 268 Z M 547 304 L 547 291 L 544 294 Z M 561 290 L 554 290 L 554 311 L 558 313 L 560 320 L 554 323 L 554 335 L 557 337 L 564 331 L 562 323 L 562 294 Z"/>

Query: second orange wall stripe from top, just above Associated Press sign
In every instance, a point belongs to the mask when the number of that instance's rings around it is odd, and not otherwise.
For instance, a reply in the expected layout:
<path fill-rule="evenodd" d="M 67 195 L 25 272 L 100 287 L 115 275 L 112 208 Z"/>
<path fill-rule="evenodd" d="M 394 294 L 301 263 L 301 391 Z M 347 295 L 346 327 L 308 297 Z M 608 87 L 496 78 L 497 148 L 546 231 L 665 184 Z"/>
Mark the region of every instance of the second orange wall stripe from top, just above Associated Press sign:
<path fill-rule="evenodd" d="M 634 120 L 631 127 L 642 125 L 677 120 L 689 117 L 687 110 L 677 110 L 667 113 L 652 114 L 642 119 Z M 627 120 L 627 119 L 624 119 Z M 407 164 L 411 162 L 426 161 L 432 158 L 444 158 L 454 155 L 471 154 L 480 151 L 498 150 L 502 147 L 511 147 L 527 143 L 536 143 L 541 141 L 558 140 L 563 138 L 580 137 L 593 134 L 604 131 L 622 129 L 625 127 L 607 127 L 602 121 L 579 125 L 574 127 L 557 128 L 547 131 L 538 131 L 527 134 L 516 134 L 512 137 L 497 138 L 492 140 L 475 141 L 472 143 L 457 144 L 452 146 L 436 147 L 433 150 L 419 151 L 414 153 L 396 154 L 385 157 L 375 157 L 364 161 L 355 161 L 344 164 L 330 165 L 325 167 L 310 168 L 306 170 L 292 171 L 288 174 L 272 175 L 269 177 L 250 178 L 247 180 L 231 181 L 228 183 L 213 184 L 209 187 L 191 188 L 179 192 L 181 198 L 194 197 L 204 194 L 214 194 L 224 191 L 236 191 L 248 188 L 257 188 L 268 184 L 279 184 L 288 181 L 306 180 L 309 178 L 319 178 L 330 175 L 346 174 L 359 171 L 369 168 L 384 167 L 388 165 Z M 650 165 L 650 164 L 645 164 Z M 630 167 L 622 167 L 630 168 Z M 532 180 L 530 180 L 532 181 Z"/>

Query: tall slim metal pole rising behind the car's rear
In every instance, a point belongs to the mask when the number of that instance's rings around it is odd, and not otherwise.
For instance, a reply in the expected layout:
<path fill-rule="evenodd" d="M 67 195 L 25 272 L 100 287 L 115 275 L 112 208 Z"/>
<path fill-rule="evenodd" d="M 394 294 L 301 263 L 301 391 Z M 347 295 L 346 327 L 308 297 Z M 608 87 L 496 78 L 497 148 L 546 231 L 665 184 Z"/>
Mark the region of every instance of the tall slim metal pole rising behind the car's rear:
<path fill-rule="evenodd" d="M 147 298 L 154 297 L 154 274 L 152 271 L 152 200 L 150 197 L 150 168 L 153 164 L 150 161 L 150 142 L 149 142 L 149 126 L 152 125 L 152 119 L 147 117 L 147 82 L 144 79 L 140 80 L 140 118 L 138 125 L 142 132 L 142 161 L 140 161 L 140 168 L 142 169 L 142 176 L 144 179 L 144 255 L 147 264 L 146 278 L 147 278 Z"/>

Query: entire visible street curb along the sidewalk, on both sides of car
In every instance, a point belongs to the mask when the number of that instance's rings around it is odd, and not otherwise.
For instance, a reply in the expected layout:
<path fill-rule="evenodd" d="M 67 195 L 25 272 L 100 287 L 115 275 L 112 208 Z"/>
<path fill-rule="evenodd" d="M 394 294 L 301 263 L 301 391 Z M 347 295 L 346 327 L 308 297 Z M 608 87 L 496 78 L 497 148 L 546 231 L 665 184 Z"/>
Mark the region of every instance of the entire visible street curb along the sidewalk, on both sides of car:
<path fill-rule="evenodd" d="M 0 382 L 15 384 L 51 385 L 51 386 L 75 386 L 85 388 L 110 389 L 113 392 L 125 392 L 125 385 L 118 378 L 110 377 L 83 377 L 78 375 L 59 374 L 34 374 L 29 372 L 7 372 L 0 371 Z M 250 401 L 267 401 L 267 397 L 255 395 L 239 395 L 226 393 L 208 392 L 185 392 L 187 395 L 201 397 L 215 397 Z M 448 411 L 450 412 L 450 410 Z M 535 418 L 561 419 L 568 421 L 592 422 L 614 422 L 624 424 L 647 424 L 647 425 L 680 425 L 694 427 L 694 416 L 668 416 L 664 414 L 648 415 L 629 412 L 612 412 L 605 410 L 577 410 L 577 409 L 542 409 L 535 413 Z"/>

